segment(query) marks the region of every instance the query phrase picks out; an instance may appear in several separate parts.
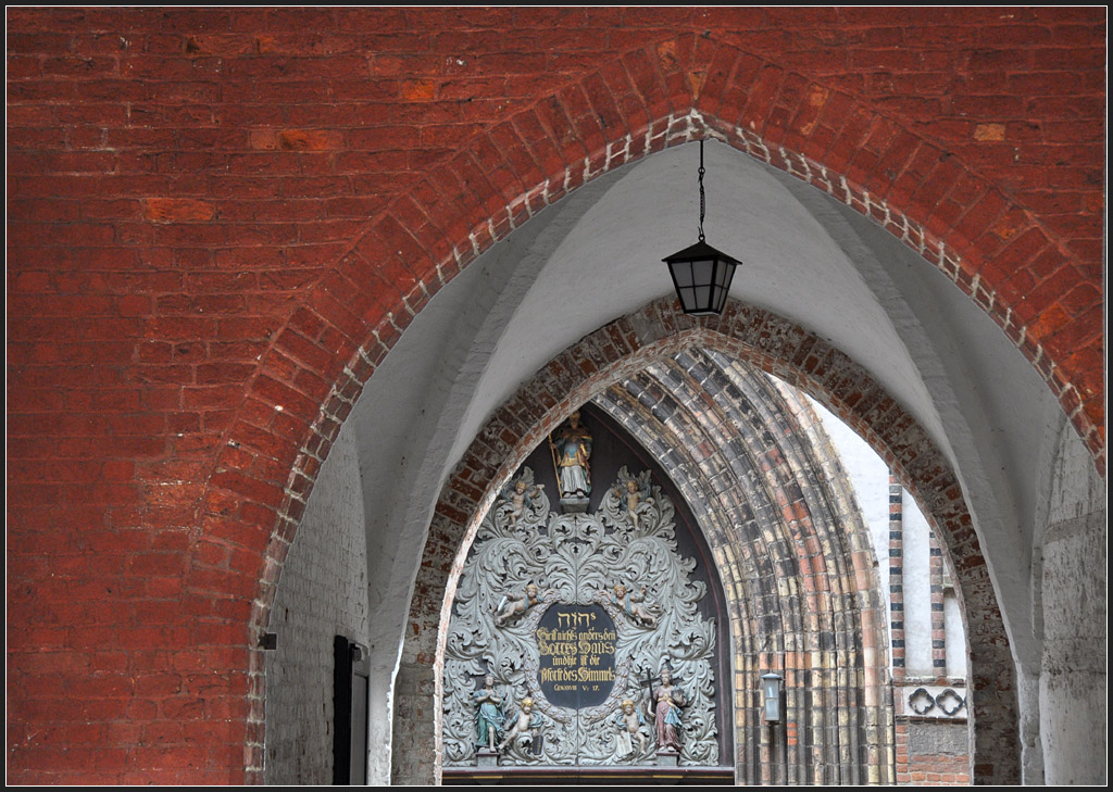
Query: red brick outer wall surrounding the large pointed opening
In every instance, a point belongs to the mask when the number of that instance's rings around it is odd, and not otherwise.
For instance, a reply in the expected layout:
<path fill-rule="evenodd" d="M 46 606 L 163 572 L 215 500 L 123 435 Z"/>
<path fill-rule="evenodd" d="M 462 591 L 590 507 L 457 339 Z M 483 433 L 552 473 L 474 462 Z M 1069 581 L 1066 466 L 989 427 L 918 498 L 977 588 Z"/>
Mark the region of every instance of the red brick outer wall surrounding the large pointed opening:
<path fill-rule="evenodd" d="M 259 766 L 299 452 L 460 267 L 692 108 L 845 177 L 1104 471 L 1104 14 L 9 10 L 10 779 Z"/>

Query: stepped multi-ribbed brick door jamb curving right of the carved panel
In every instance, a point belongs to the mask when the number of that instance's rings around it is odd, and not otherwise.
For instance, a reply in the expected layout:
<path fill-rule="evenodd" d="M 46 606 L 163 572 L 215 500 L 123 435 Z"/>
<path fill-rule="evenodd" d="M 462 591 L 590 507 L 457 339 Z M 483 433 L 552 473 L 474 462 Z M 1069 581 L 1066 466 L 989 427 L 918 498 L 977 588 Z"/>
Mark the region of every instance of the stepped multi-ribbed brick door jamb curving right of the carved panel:
<path fill-rule="evenodd" d="M 837 456 L 821 451 L 818 417 L 797 399 L 738 360 L 689 348 L 592 404 L 664 467 L 732 593 L 737 781 L 892 783 L 885 601 L 871 541 Z M 805 735 L 789 761 L 769 750 L 754 702 L 769 670 L 788 681 L 786 721 Z"/>

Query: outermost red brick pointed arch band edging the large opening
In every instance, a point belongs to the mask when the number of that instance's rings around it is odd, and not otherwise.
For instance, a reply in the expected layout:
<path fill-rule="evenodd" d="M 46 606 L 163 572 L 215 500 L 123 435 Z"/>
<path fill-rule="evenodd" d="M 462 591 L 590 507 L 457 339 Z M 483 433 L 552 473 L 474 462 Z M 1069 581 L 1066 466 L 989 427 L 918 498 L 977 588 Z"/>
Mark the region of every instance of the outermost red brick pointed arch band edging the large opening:
<path fill-rule="evenodd" d="M 1093 313 L 1101 295 L 1063 263 L 1065 242 L 940 142 L 768 58 L 682 34 L 626 52 L 485 128 L 357 236 L 258 367 L 209 478 L 189 588 L 249 598 L 257 634 L 321 462 L 413 316 L 544 206 L 705 135 L 881 222 L 946 273 L 1037 367 L 1103 469 L 1101 355 L 1095 368 L 1091 354 L 1102 343 Z M 1045 299 L 1018 290 L 1026 269 L 1041 283 L 1054 276 L 1055 290 L 1037 293 Z M 1073 354 L 1045 347 L 1052 331 L 1041 317 L 1083 293 L 1085 307 L 1060 310 L 1054 326 L 1055 338 L 1080 341 L 1068 345 Z M 257 722 L 260 700 L 249 701 Z M 260 766 L 257 753 L 249 769 Z"/>

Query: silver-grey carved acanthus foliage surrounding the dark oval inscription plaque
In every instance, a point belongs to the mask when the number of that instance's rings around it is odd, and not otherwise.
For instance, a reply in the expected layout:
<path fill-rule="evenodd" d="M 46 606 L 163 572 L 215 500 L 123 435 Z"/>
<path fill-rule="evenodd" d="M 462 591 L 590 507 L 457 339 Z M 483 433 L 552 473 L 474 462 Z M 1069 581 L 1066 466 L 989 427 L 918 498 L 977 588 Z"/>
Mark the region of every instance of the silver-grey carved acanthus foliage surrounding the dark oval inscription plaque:
<path fill-rule="evenodd" d="M 623 467 L 618 475 L 594 514 L 558 514 L 523 468 L 484 518 L 449 628 L 445 764 L 475 761 L 473 692 L 486 674 L 502 701 L 532 699 L 533 722 L 540 724 L 540 739 L 505 745 L 502 764 L 651 763 L 658 746 L 649 696 L 664 666 L 684 701 L 680 764 L 718 764 L 715 622 L 697 610 L 705 586 L 690 580 L 696 562 L 678 554 L 672 503 L 652 486 L 649 472 L 633 476 Z M 519 482 L 530 494 L 524 508 L 513 497 L 523 491 Z M 613 666 L 603 663 L 602 677 L 610 667 L 613 675 L 600 704 L 559 705 L 542 691 L 536 631 L 553 605 L 601 607 L 613 622 Z M 575 652 L 572 657 L 581 667 L 599 661 Z M 631 751 L 620 734 L 617 717 L 626 699 L 643 712 L 643 750 L 633 740 Z"/>

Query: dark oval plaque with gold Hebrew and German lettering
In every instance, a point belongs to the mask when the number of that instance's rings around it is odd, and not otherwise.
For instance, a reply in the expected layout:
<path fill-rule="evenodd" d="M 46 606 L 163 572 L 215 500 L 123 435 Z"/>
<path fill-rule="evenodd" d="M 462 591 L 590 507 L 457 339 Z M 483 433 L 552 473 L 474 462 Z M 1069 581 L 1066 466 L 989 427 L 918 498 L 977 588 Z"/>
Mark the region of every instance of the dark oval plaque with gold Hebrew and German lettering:
<path fill-rule="evenodd" d="M 556 604 L 536 628 L 538 682 L 556 706 L 582 710 L 614 686 L 614 622 L 599 605 Z"/>

